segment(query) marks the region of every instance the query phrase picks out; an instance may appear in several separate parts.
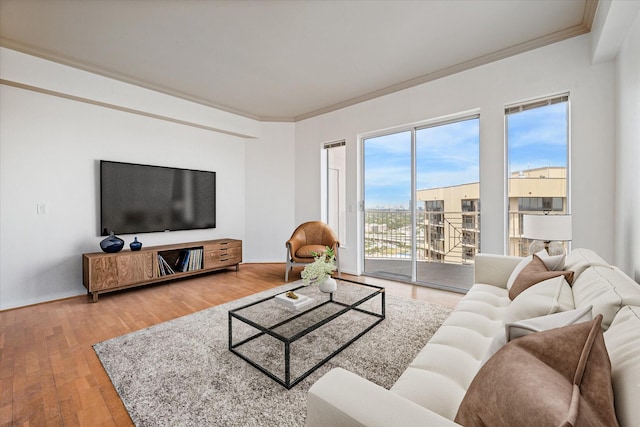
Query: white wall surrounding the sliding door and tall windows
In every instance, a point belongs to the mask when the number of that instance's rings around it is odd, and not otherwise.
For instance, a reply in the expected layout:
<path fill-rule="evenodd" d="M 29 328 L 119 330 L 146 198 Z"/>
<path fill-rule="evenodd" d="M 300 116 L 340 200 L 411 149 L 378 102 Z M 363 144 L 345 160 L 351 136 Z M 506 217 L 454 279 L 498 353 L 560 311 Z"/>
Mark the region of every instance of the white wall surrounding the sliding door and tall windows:
<path fill-rule="evenodd" d="M 565 91 L 571 97 L 573 247 L 593 248 L 613 261 L 615 64 L 591 65 L 589 42 L 588 35 L 573 38 L 297 123 L 298 182 L 319 176 L 321 142 L 347 142 L 344 271 L 359 272 L 359 134 L 479 109 L 482 251 L 503 253 L 504 106 Z M 296 222 L 320 218 L 319 187 L 296 188 Z"/>

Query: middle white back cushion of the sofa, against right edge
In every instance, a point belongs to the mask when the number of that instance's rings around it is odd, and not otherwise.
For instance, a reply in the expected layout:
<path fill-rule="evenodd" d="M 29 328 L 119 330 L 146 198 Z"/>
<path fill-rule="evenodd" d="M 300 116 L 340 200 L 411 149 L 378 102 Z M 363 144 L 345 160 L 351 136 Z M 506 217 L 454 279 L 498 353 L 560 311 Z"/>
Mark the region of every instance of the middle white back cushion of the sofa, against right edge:
<path fill-rule="evenodd" d="M 574 282 L 573 299 L 576 308 L 593 305 L 606 330 L 623 306 L 640 306 L 640 285 L 617 268 L 593 266 Z"/>

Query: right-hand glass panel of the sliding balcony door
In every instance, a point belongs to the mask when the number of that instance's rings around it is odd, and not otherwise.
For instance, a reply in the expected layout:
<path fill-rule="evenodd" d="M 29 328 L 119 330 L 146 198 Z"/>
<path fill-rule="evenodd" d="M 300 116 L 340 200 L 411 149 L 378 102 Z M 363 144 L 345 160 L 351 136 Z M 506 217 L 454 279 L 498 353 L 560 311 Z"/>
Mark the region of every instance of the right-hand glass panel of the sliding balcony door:
<path fill-rule="evenodd" d="M 416 130 L 416 280 L 468 289 L 480 248 L 480 119 Z"/>

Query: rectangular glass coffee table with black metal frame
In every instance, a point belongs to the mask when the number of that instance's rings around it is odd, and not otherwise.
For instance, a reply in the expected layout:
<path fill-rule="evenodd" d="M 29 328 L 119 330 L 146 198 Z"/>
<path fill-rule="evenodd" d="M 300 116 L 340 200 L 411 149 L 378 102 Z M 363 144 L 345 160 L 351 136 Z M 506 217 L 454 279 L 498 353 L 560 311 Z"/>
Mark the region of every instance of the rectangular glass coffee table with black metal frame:
<path fill-rule="evenodd" d="M 229 350 L 292 388 L 385 318 L 384 288 L 336 280 L 331 294 L 292 283 L 297 308 L 278 294 L 230 310 Z"/>

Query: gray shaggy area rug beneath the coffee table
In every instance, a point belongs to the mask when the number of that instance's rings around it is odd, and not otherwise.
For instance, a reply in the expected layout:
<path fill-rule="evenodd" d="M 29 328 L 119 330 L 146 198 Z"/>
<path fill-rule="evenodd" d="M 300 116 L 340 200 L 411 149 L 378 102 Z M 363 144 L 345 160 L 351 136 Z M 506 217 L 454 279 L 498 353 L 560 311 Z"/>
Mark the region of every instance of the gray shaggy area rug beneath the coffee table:
<path fill-rule="evenodd" d="M 303 426 L 307 390 L 323 374 L 342 367 L 390 388 L 451 313 L 448 307 L 387 295 L 384 321 L 287 390 L 228 350 L 228 311 L 293 287 L 274 288 L 94 345 L 134 424 Z M 348 320 L 350 325 L 356 321 Z M 323 346 L 335 345 L 323 342 L 323 335 L 300 343 L 298 353 L 292 350 L 293 359 L 311 360 Z M 276 344 L 259 345 L 262 350 L 254 349 L 255 357 L 259 353 L 281 360 Z"/>

